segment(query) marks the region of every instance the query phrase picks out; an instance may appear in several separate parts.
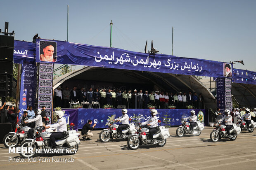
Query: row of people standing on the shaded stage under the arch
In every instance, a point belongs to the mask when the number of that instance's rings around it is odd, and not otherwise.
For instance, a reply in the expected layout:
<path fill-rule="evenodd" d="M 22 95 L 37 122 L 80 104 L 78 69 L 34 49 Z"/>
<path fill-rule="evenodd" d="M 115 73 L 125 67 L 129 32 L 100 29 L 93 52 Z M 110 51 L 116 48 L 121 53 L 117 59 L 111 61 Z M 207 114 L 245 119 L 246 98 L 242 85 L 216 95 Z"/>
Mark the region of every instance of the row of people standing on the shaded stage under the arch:
<path fill-rule="evenodd" d="M 186 106 L 192 105 L 194 109 L 204 108 L 204 98 L 201 94 L 191 93 L 186 94 L 185 92 L 179 93 L 168 93 L 161 91 L 137 91 L 136 89 L 131 90 L 115 90 L 115 89 L 98 89 L 92 91 L 89 88 L 87 91 L 85 88 L 73 87 L 69 90 L 66 87 L 64 90 L 59 86 L 54 90 L 54 107 L 69 108 L 70 102 L 97 102 L 103 108 L 104 105 L 112 105 L 116 108 L 118 105 L 126 105 L 126 108 L 133 109 L 146 109 L 148 105 L 154 106 L 157 109 L 168 109 L 169 105 L 175 106 L 177 109 L 186 109 Z"/>

